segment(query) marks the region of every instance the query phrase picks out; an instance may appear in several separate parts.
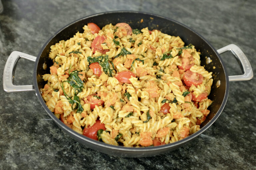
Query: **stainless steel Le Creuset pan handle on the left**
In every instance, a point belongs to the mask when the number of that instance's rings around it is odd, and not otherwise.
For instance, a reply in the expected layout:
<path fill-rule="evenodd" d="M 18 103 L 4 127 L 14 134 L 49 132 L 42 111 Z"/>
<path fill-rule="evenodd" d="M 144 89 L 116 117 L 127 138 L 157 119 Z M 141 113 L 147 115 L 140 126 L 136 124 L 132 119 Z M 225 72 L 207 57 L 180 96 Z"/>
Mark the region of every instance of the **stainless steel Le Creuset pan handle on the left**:
<path fill-rule="evenodd" d="M 22 92 L 22 91 L 33 91 L 34 86 L 33 85 L 23 85 L 23 86 L 15 86 L 13 85 L 13 79 L 14 79 L 14 72 L 17 65 L 17 62 L 20 58 L 24 58 L 30 61 L 36 61 L 36 57 L 32 55 L 25 54 L 23 52 L 19 51 L 13 51 L 4 67 L 4 75 L 3 75 L 3 87 L 4 91 L 10 93 L 10 92 Z"/>

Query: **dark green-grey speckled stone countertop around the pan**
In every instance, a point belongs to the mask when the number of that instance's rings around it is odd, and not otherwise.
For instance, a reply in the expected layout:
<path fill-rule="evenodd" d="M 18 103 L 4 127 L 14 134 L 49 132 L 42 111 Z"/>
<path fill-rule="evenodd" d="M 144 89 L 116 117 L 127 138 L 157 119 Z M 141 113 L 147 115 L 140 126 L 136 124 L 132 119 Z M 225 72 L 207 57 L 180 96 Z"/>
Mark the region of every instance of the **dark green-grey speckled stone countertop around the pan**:
<path fill-rule="evenodd" d="M 3 1 L 3 0 L 2 0 Z M 136 10 L 175 19 L 218 49 L 237 44 L 256 73 L 256 1 L 3 1 L 0 14 L 0 80 L 14 51 L 37 56 L 66 24 L 103 11 Z M 229 75 L 241 74 L 236 59 L 223 54 Z M 33 84 L 34 63 L 19 60 L 15 84 Z M 121 158 L 94 151 L 66 135 L 50 119 L 35 92 L 6 93 L 0 84 L 0 169 L 256 169 L 256 79 L 230 82 L 217 121 L 195 140 L 172 152 Z"/>

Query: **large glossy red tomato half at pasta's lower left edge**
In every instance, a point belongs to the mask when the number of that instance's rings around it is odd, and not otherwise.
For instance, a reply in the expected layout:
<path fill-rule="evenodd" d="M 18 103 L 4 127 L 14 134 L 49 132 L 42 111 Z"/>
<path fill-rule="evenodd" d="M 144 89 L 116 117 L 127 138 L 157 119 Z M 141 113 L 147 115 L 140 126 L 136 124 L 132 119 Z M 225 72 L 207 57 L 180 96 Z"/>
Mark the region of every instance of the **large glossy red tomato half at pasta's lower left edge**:
<path fill-rule="evenodd" d="M 93 126 L 84 128 L 83 135 L 85 135 L 91 139 L 98 140 L 97 131 L 99 129 L 106 130 L 105 125 L 100 123 L 100 120 L 96 120 L 96 122 L 95 122 L 95 124 L 93 124 Z"/>

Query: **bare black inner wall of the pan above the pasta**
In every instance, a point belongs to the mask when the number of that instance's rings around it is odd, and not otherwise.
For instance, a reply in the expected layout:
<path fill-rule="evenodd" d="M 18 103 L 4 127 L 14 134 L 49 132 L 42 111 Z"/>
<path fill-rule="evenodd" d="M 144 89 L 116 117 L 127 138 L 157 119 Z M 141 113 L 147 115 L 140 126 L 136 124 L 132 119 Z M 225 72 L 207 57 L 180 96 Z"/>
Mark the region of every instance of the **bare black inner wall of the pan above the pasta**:
<path fill-rule="evenodd" d="M 121 22 L 128 23 L 132 29 L 142 29 L 148 27 L 149 30 L 157 29 L 163 33 L 172 36 L 179 36 L 185 42 L 185 45 L 188 45 L 190 43 L 195 45 L 195 48 L 201 52 L 201 65 L 205 66 L 206 70 L 208 70 L 209 72 L 213 72 L 213 86 L 211 94 L 208 96 L 209 99 L 213 100 L 213 103 L 209 107 L 210 114 L 208 115 L 205 123 L 202 124 L 202 127 L 206 126 L 205 129 L 208 128 L 208 122 L 214 122 L 217 119 L 225 105 L 228 93 L 227 74 L 220 56 L 216 53 L 212 45 L 210 45 L 200 35 L 196 34 L 193 30 L 176 21 L 147 13 L 124 11 L 96 14 L 93 16 L 79 19 L 59 30 L 48 40 L 48 42 L 45 43 L 41 52 L 38 54 L 38 57 L 40 58 L 37 60 L 38 62 L 36 61 L 35 67 L 35 88 L 37 92 L 40 92 L 40 88 L 43 88 L 44 84 L 46 83 L 45 81 L 43 81 L 42 75 L 49 73 L 49 67 L 53 64 L 52 60 L 48 57 L 48 54 L 50 52 L 50 46 L 61 40 L 70 39 L 78 31 L 82 33 L 82 27 L 90 22 L 97 24 L 100 28 L 109 23 L 115 25 Z M 210 57 L 210 59 L 208 59 L 211 61 L 209 64 L 206 64 L 207 57 Z M 46 70 L 43 69 L 43 64 L 47 65 Z M 220 81 L 219 87 L 216 86 L 218 80 Z M 43 103 L 41 95 L 39 96 L 39 100 L 41 101 L 41 103 Z M 45 104 L 43 105 L 43 107 L 47 108 Z M 48 112 L 48 114 L 52 114 L 49 110 L 46 109 L 46 111 Z"/>

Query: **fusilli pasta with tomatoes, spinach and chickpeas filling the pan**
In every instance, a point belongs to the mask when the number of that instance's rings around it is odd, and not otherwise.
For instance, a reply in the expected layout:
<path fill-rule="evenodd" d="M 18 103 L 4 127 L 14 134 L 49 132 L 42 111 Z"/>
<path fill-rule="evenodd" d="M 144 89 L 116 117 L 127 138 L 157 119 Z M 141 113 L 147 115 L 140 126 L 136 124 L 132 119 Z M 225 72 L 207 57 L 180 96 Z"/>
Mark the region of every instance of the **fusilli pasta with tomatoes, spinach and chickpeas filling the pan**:
<path fill-rule="evenodd" d="M 47 107 L 89 138 L 125 147 L 158 146 L 200 130 L 212 101 L 212 72 L 180 37 L 127 23 L 94 23 L 51 46 L 41 89 Z"/>

